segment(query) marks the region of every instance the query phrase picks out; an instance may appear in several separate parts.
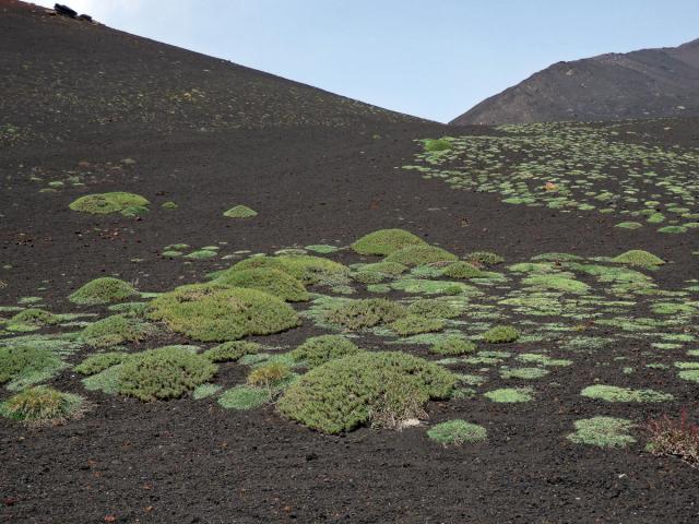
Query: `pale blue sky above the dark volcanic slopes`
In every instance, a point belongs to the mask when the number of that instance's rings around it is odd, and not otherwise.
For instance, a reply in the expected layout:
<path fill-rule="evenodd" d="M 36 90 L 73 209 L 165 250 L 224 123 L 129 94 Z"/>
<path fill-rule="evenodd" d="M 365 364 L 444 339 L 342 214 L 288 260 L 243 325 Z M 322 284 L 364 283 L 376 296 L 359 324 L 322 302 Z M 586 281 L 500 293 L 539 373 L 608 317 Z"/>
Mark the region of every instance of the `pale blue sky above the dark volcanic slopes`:
<path fill-rule="evenodd" d="M 557 61 L 699 38 L 697 0 L 61 3 L 128 33 L 441 122 Z"/>

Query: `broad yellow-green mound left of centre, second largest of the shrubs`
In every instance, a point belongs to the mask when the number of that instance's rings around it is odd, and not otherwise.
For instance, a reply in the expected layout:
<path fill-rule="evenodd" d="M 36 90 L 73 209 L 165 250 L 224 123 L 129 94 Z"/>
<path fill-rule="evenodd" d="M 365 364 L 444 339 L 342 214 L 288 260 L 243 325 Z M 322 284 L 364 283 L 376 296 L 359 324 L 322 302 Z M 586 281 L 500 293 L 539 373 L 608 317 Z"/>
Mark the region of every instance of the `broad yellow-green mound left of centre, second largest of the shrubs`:
<path fill-rule="evenodd" d="M 300 323 L 288 303 L 268 293 L 202 284 L 161 295 L 151 303 L 149 317 L 202 342 L 269 335 Z"/>

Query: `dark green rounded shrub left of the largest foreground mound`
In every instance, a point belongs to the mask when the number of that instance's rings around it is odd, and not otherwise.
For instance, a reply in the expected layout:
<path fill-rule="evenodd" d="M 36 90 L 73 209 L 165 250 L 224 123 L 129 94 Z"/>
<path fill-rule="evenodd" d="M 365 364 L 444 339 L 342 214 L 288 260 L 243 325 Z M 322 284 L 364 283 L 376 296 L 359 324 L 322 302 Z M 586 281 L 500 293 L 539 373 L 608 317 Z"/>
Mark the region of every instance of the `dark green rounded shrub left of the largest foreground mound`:
<path fill-rule="evenodd" d="M 179 398 L 208 382 L 217 367 L 208 358 L 178 347 L 130 355 L 119 368 L 118 392 L 141 401 Z"/>

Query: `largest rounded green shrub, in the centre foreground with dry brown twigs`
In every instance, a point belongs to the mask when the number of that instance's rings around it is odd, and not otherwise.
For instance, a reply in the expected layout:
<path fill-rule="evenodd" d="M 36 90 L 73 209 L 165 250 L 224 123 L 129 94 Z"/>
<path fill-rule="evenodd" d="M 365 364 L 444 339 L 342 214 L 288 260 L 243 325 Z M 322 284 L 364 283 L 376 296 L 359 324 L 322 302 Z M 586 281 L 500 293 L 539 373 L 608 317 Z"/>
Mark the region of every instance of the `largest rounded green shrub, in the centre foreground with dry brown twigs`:
<path fill-rule="evenodd" d="M 362 352 L 311 369 L 277 402 L 288 418 L 325 433 L 371 422 L 395 427 L 424 416 L 429 400 L 447 398 L 455 376 L 400 352 Z"/>

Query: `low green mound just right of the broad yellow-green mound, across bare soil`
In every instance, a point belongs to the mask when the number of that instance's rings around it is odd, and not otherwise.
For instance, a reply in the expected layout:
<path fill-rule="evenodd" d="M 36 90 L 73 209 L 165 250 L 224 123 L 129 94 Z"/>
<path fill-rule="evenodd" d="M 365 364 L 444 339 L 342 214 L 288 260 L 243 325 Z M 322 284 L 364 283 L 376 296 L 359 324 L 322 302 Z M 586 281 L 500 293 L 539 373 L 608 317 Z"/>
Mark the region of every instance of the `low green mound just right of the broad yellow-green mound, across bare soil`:
<path fill-rule="evenodd" d="M 384 298 L 347 300 L 325 312 L 325 320 L 351 331 L 394 322 L 406 314 L 405 307 Z"/>

